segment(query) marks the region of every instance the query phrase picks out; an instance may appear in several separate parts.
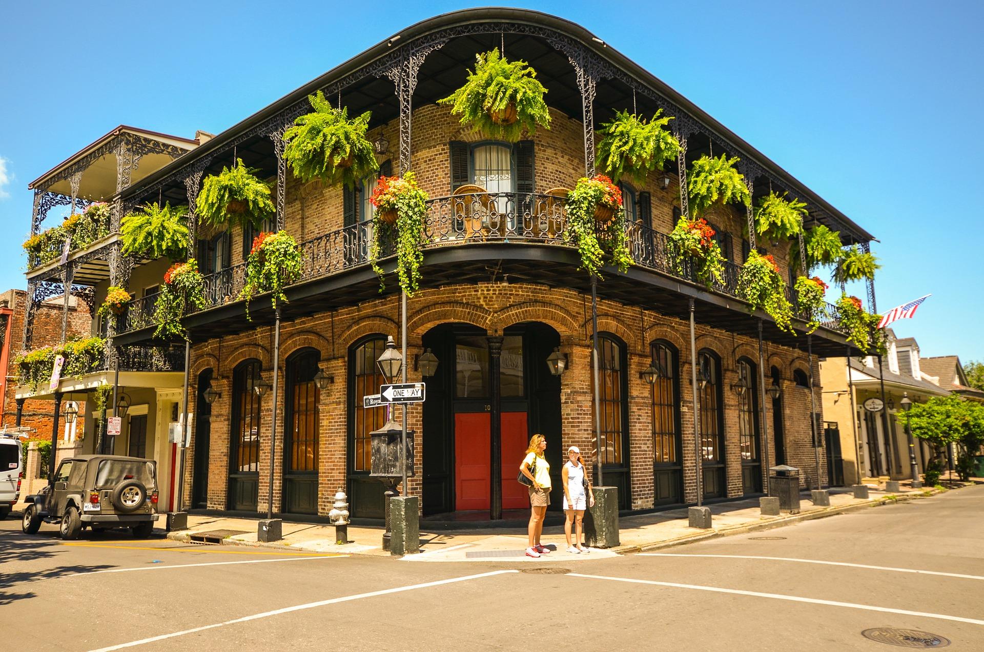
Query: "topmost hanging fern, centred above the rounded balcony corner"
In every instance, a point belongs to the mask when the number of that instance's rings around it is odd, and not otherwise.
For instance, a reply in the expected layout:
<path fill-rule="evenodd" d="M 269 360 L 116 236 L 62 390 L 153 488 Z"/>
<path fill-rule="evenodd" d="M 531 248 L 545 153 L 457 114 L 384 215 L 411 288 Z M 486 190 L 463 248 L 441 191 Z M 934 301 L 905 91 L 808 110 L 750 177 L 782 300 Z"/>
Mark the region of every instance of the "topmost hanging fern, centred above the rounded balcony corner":
<path fill-rule="evenodd" d="M 475 71 L 458 91 L 440 104 L 452 104 L 452 115 L 471 125 L 486 138 L 516 142 L 523 129 L 532 134 L 539 125 L 550 128 L 550 111 L 536 79 L 525 61 L 509 61 L 499 48 L 475 55 Z"/>

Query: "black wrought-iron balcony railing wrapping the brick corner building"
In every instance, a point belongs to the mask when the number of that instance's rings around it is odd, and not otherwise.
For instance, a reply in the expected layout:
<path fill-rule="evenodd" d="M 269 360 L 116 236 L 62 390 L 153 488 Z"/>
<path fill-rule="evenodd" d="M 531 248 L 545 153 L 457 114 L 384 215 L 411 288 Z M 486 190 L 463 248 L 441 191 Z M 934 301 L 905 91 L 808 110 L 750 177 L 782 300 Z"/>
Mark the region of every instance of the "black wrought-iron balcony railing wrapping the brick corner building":
<path fill-rule="evenodd" d="M 300 243 L 304 268 L 296 283 L 336 274 L 369 262 L 372 224 L 363 223 L 338 228 Z M 436 249 L 461 244 L 550 244 L 574 248 L 566 239 L 567 212 L 562 197 L 534 193 L 480 193 L 454 195 L 428 200 L 421 248 Z M 629 251 L 640 267 L 701 285 L 695 266 L 689 260 L 675 260 L 670 254 L 669 236 L 642 224 L 632 224 L 626 231 Z M 380 243 L 381 258 L 395 253 L 395 242 Z M 722 280 L 711 290 L 736 298 L 741 266 L 725 261 Z M 237 300 L 245 282 L 245 264 L 206 276 L 205 293 L 209 307 Z M 786 289 L 793 302 L 792 289 Z M 155 300 L 155 297 L 150 297 Z M 154 302 L 139 299 L 130 304 L 121 332 L 143 328 L 152 323 Z M 797 315 L 805 317 L 801 311 Z M 821 319 L 826 328 L 842 331 L 836 308 L 828 304 L 828 314 Z"/>

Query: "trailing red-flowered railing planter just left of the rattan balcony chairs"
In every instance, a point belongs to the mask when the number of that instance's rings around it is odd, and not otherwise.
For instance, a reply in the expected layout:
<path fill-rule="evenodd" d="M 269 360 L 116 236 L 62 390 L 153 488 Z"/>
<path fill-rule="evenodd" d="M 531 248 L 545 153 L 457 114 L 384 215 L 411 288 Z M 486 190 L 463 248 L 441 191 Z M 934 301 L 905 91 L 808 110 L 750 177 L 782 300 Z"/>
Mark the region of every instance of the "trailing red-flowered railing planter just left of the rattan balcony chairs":
<path fill-rule="evenodd" d="M 397 276 L 400 288 L 412 296 L 420 287 L 420 264 L 424 254 L 420 250 L 424 220 L 427 218 L 427 193 L 417 185 L 416 175 L 410 171 L 402 178 L 382 176 L 369 201 L 373 212 L 372 241 L 369 243 L 369 263 L 379 277 L 383 292 L 383 268 L 379 265 L 380 242 L 397 242 Z"/>

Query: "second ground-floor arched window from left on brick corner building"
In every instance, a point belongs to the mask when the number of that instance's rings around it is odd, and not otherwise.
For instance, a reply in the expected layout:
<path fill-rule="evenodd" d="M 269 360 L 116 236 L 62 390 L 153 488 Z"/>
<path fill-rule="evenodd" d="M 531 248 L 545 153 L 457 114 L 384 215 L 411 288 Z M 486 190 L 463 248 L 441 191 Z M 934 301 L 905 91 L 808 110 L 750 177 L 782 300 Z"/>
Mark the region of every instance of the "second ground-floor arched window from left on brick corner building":
<path fill-rule="evenodd" d="M 253 389 L 260 382 L 261 364 L 248 359 L 232 371 L 232 427 L 229 431 L 230 509 L 256 511 L 260 472 L 260 397 Z"/>

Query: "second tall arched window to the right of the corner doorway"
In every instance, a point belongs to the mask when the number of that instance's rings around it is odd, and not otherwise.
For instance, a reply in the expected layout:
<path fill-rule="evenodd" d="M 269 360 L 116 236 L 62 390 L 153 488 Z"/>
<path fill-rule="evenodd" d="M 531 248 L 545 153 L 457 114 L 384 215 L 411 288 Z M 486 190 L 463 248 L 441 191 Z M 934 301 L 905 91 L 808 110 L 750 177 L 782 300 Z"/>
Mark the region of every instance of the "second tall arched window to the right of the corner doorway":
<path fill-rule="evenodd" d="M 649 345 L 657 371 L 651 386 L 653 505 L 683 502 L 680 455 L 680 380 L 678 354 L 668 342 Z"/>

